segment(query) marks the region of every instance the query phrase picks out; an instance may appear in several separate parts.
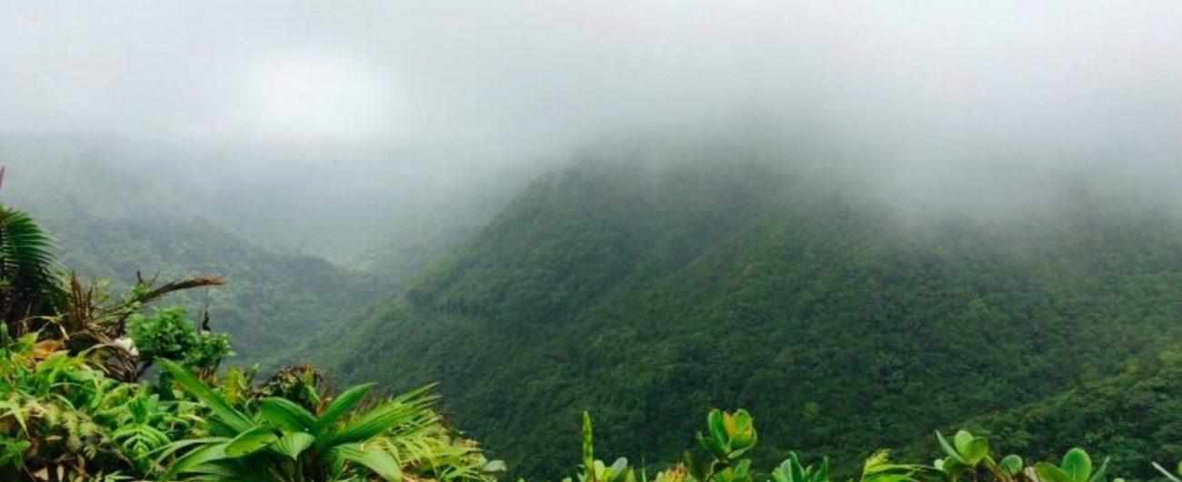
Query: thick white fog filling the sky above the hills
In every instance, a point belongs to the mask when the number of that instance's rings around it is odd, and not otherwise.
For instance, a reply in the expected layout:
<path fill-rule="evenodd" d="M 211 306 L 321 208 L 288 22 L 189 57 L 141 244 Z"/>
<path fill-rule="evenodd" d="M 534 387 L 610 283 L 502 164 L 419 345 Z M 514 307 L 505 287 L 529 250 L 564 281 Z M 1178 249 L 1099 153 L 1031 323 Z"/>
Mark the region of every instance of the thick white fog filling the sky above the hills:
<path fill-rule="evenodd" d="M 0 1 L 0 131 L 371 207 L 502 198 L 618 139 L 747 145 L 902 204 L 1022 209 L 1061 176 L 1173 203 L 1178 32 L 1173 0 Z"/>

